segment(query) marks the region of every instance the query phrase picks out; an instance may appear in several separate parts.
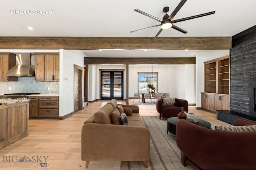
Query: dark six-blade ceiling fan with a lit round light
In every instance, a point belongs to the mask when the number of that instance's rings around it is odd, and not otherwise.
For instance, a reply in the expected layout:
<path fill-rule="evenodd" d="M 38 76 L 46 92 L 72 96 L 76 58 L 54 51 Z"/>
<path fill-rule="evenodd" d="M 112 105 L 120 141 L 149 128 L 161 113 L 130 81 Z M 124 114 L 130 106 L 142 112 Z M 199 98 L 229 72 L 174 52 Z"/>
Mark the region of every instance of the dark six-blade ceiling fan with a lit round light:
<path fill-rule="evenodd" d="M 156 17 L 154 17 L 150 14 L 147 14 L 147 13 L 141 11 L 141 10 L 138 10 L 138 9 L 135 9 L 134 11 L 136 11 L 140 14 L 143 14 L 143 15 L 149 17 L 149 18 L 152 18 L 156 21 L 161 22 L 161 24 L 159 24 L 159 25 L 154 25 L 154 26 L 151 26 L 151 27 L 142 28 L 142 29 L 147 29 L 147 28 L 161 26 L 161 29 L 158 31 L 158 33 L 154 37 L 154 39 L 156 39 L 158 37 L 158 35 L 163 31 L 163 29 L 168 29 L 170 27 L 173 28 L 173 29 L 176 29 L 177 31 L 180 31 L 182 33 L 187 33 L 187 31 L 181 29 L 180 27 L 177 27 L 177 26 L 173 25 L 173 23 L 186 21 L 186 20 L 191 20 L 191 19 L 199 18 L 199 17 L 203 17 L 203 16 L 208 16 L 208 15 L 211 15 L 211 14 L 215 13 L 215 11 L 212 11 L 212 12 L 207 12 L 207 13 L 204 13 L 204 14 L 199 14 L 199 15 L 196 15 L 196 16 L 190 16 L 190 17 L 181 18 L 181 19 L 178 19 L 178 20 L 172 20 L 174 18 L 174 16 L 178 13 L 180 8 L 185 4 L 186 1 L 187 0 L 181 0 L 180 4 L 178 4 L 178 6 L 174 9 L 174 11 L 172 12 L 172 14 L 170 16 L 168 16 L 168 14 L 167 14 L 167 12 L 169 11 L 169 7 L 168 6 L 164 7 L 163 11 L 165 12 L 165 15 L 163 17 L 163 20 L 160 20 L 159 18 L 156 18 Z M 134 31 L 130 31 L 130 33 L 133 33 L 135 31 L 140 31 L 142 29 L 137 29 L 137 30 L 134 30 Z"/>

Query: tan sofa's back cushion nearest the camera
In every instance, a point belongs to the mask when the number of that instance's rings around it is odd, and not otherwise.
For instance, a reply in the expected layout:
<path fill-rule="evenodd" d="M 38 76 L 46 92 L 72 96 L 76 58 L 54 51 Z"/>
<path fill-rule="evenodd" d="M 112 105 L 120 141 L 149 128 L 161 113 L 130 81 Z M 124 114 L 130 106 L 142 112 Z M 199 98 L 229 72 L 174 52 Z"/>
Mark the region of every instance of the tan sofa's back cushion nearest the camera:
<path fill-rule="evenodd" d="M 110 115 L 113 111 L 112 104 L 105 104 L 94 113 L 94 123 L 112 124 Z"/>

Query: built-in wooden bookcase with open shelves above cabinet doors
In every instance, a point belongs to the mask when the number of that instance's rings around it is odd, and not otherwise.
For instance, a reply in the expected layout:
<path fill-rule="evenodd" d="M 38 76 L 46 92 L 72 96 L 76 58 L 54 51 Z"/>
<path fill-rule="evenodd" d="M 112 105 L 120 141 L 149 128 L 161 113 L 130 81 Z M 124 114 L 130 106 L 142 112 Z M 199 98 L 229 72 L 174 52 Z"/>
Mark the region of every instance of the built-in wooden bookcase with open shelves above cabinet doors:
<path fill-rule="evenodd" d="M 229 109 L 229 56 L 204 63 L 202 109 L 216 113 Z"/>

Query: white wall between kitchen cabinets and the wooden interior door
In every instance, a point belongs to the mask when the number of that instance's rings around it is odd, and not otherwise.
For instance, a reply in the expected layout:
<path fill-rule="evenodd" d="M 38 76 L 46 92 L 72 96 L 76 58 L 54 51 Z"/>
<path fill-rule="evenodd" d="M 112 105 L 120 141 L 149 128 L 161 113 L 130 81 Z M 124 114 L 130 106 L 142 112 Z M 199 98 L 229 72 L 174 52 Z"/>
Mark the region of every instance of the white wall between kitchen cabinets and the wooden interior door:
<path fill-rule="evenodd" d="M 74 64 L 84 68 L 84 52 L 60 49 L 60 116 L 74 111 Z M 84 81 L 82 81 L 82 86 L 84 86 Z"/>

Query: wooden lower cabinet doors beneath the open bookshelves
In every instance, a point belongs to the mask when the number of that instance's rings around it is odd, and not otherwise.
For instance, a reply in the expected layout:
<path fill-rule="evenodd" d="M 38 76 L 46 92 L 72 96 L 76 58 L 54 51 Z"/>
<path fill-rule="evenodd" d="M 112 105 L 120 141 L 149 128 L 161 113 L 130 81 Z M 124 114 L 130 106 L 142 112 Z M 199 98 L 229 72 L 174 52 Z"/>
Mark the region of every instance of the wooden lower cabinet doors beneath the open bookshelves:
<path fill-rule="evenodd" d="M 206 111 L 216 113 L 216 110 L 229 110 L 229 95 L 201 93 L 201 107 Z"/>

